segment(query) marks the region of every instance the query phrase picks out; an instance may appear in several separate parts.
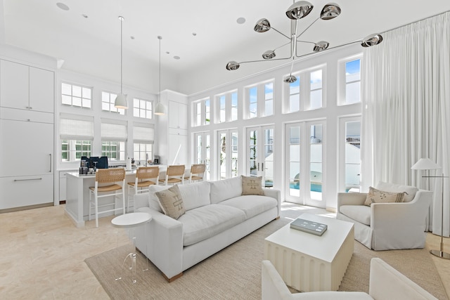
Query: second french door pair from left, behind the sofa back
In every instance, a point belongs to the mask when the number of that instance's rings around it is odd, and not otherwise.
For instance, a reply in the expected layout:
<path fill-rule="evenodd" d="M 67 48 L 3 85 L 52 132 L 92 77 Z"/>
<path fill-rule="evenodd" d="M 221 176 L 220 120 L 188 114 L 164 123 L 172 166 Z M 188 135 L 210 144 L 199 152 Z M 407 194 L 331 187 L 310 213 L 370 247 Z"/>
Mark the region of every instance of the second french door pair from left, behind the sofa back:
<path fill-rule="evenodd" d="M 225 179 L 238 176 L 238 130 L 217 131 L 218 178 Z"/>

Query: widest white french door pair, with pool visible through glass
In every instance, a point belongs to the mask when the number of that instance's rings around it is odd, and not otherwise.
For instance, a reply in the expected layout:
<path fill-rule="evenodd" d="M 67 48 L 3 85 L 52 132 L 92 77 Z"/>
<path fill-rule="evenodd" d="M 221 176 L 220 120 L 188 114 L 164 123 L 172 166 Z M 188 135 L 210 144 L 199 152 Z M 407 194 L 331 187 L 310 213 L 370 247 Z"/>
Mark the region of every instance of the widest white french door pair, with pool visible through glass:
<path fill-rule="evenodd" d="M 326 207 L 323 201 L 325 129 L 325 121 L 286 124 L 285 200 Z"/>

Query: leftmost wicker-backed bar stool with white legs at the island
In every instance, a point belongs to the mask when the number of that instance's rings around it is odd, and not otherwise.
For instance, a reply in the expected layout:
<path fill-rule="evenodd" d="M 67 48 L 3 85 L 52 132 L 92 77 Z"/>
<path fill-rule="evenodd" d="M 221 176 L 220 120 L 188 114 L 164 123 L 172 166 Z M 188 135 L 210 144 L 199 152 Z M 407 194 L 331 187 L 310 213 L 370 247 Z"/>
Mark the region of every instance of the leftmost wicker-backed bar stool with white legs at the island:
<path fill-rule="evenodd" d="M 110 211 L 119 211 L 125 214 L 125 169 L 97 169 L 96 184 L 89 187 L 89 221 L 91 221 L 91 209 L 95 209 L 96 227 L 98 227 L 98 214 L 105 214 Z M 114 192 L 114 193 L 112 193 Z M 119 193 L 120 192 L 120 193 Z M 94 195 L 94 200 L 92 200 Z M 115 198 L 122 195 L 122 207 L 116 208 Z M 99 204 L 100 198 L 114 196 L 113 202 L 106 202 Z M 99 207 L 114 207 L 113 209 L 106 209 L 98 212 Z"/>

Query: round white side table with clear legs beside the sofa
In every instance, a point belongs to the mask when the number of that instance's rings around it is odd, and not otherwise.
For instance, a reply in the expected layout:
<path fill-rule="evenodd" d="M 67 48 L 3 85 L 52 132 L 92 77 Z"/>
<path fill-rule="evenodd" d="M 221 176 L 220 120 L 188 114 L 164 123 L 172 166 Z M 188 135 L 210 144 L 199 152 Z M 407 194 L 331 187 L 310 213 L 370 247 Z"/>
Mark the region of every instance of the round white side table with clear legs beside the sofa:
<path fill-rule="evenodd" d="M 151 220 L 152 220 L 151 214 L 148 214 L 146 212 L 132 212 L 129 214 L 122 214 L 120 216 L 116 216 L 113 220 L 111 220 L 111 223 L 113 224 L 114 227 L 117 228 L 134 229 L 141 224 L 150 222 Z M 130 269 L 133 274 L 132 282 L 136 283 L 136 237 L 134 236 L 134 232 L 132 235 L 130 234 L 129 236 L 131 237 L 131 240 L 133 240 L 134 250 L 125 257 L 124 263 L 122 264 L 122 269 L 125 262 L 129 258 L 131 260 Z M 122 277 L 116 278 L 115 280 L 120 279 L 122 279 Z"/>

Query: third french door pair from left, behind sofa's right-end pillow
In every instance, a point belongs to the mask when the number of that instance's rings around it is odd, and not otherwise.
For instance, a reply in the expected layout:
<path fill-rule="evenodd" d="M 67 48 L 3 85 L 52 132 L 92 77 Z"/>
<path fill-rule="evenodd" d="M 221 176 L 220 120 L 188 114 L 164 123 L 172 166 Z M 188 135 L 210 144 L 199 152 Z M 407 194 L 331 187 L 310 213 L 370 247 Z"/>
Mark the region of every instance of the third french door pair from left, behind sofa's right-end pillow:
<path fill-rule="evenodd" d="M 262 176 L 266 188 L 274 186 L 274 126 L 247 129 L 247 175 Z"/>

